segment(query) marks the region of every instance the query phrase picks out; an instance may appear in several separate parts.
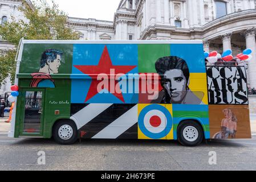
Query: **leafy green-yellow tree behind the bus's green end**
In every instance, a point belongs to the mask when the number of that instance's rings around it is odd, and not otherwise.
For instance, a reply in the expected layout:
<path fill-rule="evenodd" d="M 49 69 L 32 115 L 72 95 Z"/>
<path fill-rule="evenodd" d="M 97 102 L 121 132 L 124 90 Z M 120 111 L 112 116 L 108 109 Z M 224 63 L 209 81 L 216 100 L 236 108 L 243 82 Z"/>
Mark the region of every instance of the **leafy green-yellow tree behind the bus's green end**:
<path fill-rule="evenodd" d="M 14 49 L 7 50 L 0 56 L 0 84 L 10 75 L 11 82 L 15 78 L 15 55 L 19 40 L 78 40 L 78 32 L 72 31 L 67 23 L 67 14 L 59 10 L 59 6 L 52 0 L 49 5 L 46 0 L 35 0 L 33 6 L 23 1 L 19 7 L 26 20 L 15 19 L 0 26 L 0 35 L 14 45 Z"/>

